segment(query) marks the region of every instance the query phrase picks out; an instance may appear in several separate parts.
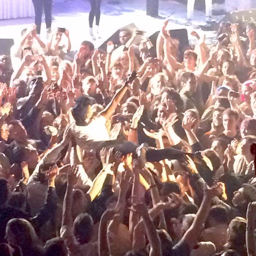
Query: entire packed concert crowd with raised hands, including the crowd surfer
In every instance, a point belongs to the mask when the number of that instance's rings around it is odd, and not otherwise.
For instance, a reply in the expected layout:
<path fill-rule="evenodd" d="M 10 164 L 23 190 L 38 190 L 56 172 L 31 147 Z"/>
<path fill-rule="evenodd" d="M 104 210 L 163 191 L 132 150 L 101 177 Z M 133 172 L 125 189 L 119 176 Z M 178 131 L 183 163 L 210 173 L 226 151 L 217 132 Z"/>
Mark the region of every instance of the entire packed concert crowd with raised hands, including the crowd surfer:
<path fill-rule="evenodd" d="M 1 256 L 256 255 L 256 25 L 167 23 L 0 56 Z"/>

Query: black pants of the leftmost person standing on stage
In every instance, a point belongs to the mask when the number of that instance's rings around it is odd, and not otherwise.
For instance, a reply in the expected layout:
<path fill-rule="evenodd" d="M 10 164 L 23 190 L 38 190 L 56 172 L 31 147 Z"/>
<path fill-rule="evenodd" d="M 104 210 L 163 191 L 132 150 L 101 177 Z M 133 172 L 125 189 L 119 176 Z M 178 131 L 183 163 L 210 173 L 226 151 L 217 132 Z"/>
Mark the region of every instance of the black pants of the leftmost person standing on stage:
<path fill-rule="evenodd" d="M 35 9 L 35 25 L 37 25 L 37 34 L 40 34 L 43 8 L 45 12 L 46 29 L 52 26 L 52 1 L 53 0 L 32 0 Z"/>

